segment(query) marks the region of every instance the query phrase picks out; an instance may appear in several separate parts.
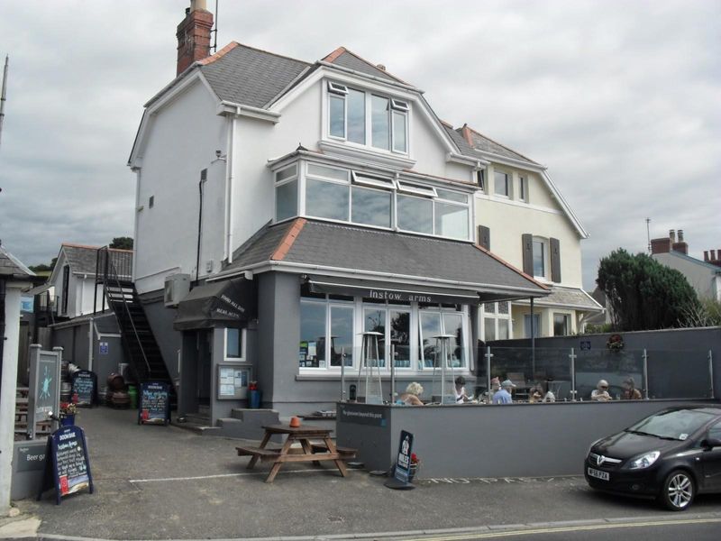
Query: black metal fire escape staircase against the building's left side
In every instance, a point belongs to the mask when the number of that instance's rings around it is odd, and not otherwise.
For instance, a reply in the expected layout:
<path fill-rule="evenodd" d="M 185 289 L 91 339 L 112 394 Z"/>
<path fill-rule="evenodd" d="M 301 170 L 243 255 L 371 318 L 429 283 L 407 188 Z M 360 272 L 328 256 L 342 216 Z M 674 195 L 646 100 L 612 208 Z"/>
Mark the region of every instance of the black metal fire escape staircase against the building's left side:
<path fill-rule="evenodd" d="M 95 307 L 99 300 L 97 295 L 100 284 L 105 290 L 103 311 L 107 299 L 108 307 L 113 310 L 118 321 L 123 347 L 135 380 L 163 381 L 169 383 L 172 392 L 174 387 L 168 368 L 132 283 L 132 253 L 111 252 L 107 246 L 100 248 L 96 259 Z"/>

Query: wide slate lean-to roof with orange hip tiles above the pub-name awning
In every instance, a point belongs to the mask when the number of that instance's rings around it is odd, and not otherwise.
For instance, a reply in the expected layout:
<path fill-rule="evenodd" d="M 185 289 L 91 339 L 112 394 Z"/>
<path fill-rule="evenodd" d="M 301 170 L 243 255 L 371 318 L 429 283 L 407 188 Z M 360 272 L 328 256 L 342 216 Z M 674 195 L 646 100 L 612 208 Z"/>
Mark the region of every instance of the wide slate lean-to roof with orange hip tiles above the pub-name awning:
<path fill-rule="evenodd" d="M 263 227 L 224 273 L 263 261 L 466 282 L 479 290 L 501 287 L 530 289 L 539 296 L 547 293 L 522 272 L 470 243 L 304 218 Z"/>

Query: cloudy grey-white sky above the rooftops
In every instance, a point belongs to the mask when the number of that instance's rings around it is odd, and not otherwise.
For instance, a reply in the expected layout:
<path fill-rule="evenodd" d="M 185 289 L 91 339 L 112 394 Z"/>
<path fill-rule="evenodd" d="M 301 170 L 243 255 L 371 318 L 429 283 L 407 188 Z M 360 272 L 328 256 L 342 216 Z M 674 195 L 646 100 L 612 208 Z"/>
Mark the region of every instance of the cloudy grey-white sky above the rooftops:
<path fill-rule="evenodd" d="M 175 76 L 188 0 L 5 2 L 0 239 L 27 264 L 132 235 L 128 154 Z M 214 8 L 214 0 L 208 0 Z M 549 167 L 589 231 L 584 285 L 622 246 L 683 229 L 721 249 L 721 3 L 220 0 L 218 45 L 301 60 L 340 45 Z"/>

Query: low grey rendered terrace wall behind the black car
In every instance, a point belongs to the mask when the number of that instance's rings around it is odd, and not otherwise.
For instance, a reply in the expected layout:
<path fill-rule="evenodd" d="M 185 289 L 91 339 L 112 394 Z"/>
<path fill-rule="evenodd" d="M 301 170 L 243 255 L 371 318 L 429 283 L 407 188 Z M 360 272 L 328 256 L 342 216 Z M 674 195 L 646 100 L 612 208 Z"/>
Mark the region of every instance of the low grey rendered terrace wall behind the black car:
<path fill-rule="evenodd" d="M 415 437 L 420 477 L 522 477 L 579 475 L 589 445 L 652 413 L 679 405 L 673 400 L 568 402 L 509 406 L 389 407 L 343 404 L 352 411 L 376 409 L 386 427 L 349 421 L 339 412 L 338 445 L 359 449 L 370 469 L 395 460 L 401 430 Z M 383 411 L 385 410 L 385 411 Z"/>

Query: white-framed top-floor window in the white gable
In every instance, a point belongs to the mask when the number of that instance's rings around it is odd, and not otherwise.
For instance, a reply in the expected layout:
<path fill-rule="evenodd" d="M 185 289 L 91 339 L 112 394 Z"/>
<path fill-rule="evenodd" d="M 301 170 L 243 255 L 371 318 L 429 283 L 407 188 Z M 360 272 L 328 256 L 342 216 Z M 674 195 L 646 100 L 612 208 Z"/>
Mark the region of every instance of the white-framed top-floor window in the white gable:
<path fill-rule="evenodd" d="M 410 105 L 328 81 L 328 135 L 381 151 L 408 153 Z"/>

